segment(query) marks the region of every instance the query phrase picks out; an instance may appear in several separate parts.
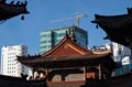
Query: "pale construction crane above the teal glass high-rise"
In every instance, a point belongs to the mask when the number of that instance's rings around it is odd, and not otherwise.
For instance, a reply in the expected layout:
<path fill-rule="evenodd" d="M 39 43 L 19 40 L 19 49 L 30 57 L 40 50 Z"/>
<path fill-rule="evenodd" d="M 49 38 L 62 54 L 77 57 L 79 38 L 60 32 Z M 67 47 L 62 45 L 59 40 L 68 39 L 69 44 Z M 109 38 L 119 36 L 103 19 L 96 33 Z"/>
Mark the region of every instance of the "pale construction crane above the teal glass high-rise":
<path fill-rule="evenodd" d="M 79 18 L 81 18 L 81 17 L 87 18 L 87 14 L 78 14 L 78 13 L 76 13 L 75 17 L 64 18 L 64 19 L 58 19 L 58 20 L 52 20 L 51 23 L 62 22 L 62 21 L 68 21 L 68 20 L 76 19 L 76 25 L 79 26 Z"/>

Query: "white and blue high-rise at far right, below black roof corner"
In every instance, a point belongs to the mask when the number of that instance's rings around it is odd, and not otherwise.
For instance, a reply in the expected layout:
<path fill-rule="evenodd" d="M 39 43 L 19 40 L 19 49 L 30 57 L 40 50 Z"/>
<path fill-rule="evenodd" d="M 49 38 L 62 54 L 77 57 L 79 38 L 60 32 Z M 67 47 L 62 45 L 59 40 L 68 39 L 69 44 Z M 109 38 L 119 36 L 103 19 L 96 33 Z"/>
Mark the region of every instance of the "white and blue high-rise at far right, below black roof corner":
<path fill-rule="evenodd" d="M 122 65 L 121 68 L 114 72 L 114 75 L 121 75 L 130 72 L 132 53 L 127 46 L 112 42 L 113 61 Z"/>

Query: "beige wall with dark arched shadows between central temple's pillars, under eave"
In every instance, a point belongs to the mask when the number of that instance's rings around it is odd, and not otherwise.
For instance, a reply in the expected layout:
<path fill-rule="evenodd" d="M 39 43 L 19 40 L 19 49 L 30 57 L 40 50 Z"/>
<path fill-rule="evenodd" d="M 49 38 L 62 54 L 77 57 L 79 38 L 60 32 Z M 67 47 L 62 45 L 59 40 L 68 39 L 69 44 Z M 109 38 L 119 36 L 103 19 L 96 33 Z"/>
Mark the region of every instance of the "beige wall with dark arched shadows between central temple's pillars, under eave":
<path fill-rule="evenodd" d="M 48 74 L 48 81 L 75 81 L 84 79 L 84 72 L 81 69 L 58 69 L 52 70 Z"/>

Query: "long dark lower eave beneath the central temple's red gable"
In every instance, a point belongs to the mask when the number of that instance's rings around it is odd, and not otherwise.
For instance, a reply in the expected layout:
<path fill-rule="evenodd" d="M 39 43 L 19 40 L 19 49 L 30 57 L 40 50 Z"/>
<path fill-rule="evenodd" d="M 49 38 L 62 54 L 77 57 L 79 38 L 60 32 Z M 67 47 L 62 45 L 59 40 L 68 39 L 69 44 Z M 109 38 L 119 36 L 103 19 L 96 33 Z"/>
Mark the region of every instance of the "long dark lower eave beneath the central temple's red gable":
<path fill-rule="evenodd" d="M 62 57 L 42 57 L 36 56 L 18 56 L 18 61 L 30 67 L 45 68 L 64 68 L 64 67 L 81 67 L 91 65 L 103 65 L 107 68 L 116 68 L 116 63 L 111 58 L 110 53 L 91 54 L 91 55 L 75 55 Z"/>

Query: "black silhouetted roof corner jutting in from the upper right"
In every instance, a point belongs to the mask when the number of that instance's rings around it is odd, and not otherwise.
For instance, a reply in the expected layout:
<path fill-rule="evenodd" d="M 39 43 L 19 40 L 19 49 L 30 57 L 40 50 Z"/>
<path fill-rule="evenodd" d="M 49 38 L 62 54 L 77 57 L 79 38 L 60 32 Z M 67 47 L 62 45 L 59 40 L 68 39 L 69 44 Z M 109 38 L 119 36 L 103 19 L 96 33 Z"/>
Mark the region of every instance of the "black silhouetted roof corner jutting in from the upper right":
<path fill-rule="evenodd" d="M 95 14 L 95 21 L 106 33 L 105 39 L 109 39 L 119 44 L 132 46 L 132 8 L 128 8 L 128 14 L 99 15 Z"/>

